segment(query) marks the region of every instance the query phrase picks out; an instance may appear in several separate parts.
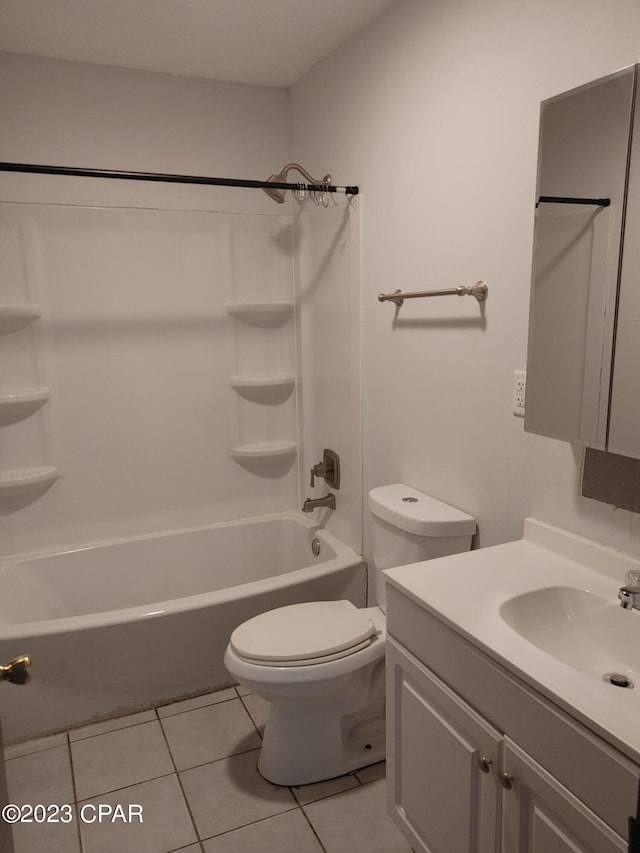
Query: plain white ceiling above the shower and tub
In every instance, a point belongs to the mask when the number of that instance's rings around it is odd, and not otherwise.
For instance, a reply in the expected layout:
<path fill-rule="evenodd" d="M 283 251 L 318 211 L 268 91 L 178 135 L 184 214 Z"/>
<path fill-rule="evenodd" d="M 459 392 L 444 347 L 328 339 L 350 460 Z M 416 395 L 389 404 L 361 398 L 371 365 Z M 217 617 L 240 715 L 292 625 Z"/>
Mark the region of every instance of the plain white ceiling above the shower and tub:
<path fill-rule="evenodd" d="M 0 0 L 0 50 L 290 86 L 394 0 Z"/>

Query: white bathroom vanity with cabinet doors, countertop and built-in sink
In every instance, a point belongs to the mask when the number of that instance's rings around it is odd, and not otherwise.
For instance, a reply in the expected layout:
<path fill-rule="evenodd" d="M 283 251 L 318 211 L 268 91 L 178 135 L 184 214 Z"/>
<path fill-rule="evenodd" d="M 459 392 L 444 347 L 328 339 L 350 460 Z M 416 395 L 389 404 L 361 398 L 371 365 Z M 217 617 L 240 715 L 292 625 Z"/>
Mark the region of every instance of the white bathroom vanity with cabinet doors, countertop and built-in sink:
<path fill-rule="evenodd" d="M 413 850 L 633 849 L 631 568 L 527 519 L 518 542 L 387 571 L 388 806 Z"/>

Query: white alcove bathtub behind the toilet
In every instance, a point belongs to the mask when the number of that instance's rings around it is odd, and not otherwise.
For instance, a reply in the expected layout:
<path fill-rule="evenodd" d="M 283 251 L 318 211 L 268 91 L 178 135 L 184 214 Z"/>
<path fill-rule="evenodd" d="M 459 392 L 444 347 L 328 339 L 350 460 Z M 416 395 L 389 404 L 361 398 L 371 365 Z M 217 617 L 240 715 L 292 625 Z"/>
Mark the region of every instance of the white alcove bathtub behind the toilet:
<path fill-rule="evenodd" d="M 227 686 L 237 625 L 337 598 L 364 606 L 366 565 L 297 512 L 0 560 L 0 662 L 33 661 L 2 688 L 5 741 Z"/>

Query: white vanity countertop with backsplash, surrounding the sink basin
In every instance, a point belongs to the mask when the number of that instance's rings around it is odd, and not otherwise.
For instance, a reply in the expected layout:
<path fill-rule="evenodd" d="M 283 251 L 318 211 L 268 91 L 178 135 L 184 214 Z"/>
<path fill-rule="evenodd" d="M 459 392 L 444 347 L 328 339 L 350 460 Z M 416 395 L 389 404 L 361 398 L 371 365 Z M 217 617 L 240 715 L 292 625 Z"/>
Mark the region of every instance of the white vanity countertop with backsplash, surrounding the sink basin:
<path fill-rule="evenodd" d="M 640 612 L 620 608 L 621 617 L 633 620 L 623 625 L 625 636 L 634 640 L 628 643 L 632 648 L 625 643 L 625 666 L 615 654 L 585 643 L 585 660 L 597 657 L 598 672 L 603 662 L 598 675 L 542 651 L 500 614 L 514 596 L 549 587 L 586 590 L 617 607 L 618 589 L 631 568 L 640 568 L 640 559 L 526 519 L 524 538 L 517 542 L 399 566 L 385 574 L 391 586 L 640 762 Z M 570 624 L 565 627 L 571 630 Z M 607 683 L 602 677 L 606 671 L 626 673 L 635 688 Z"/>

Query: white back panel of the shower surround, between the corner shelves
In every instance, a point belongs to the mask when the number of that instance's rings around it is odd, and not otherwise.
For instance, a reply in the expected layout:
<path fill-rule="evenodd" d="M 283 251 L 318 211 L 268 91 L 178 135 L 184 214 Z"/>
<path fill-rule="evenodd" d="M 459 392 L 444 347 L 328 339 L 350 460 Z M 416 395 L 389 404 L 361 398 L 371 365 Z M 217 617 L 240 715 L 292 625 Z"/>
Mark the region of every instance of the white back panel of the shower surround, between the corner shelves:
<path fill-rule="evenodd" d="M 0 217 L 3 231 L 32 235 L 38 257 L 26 266 L 41 279 L 42 312 L 0 347 L 37 327 L 51 392 L 40 412 L 3 428 L 1 464 L 29 464 L 23 433 L 50 411 L 51 455 L 34 447 L 33 462 L 62 473 L 41 496 L 34 487 L 3 498 L 13 510 L 3 521 L 31 516 L 35 527 L 14 550 L 107 538 L 127 519 L 138 529 L 198 524 L 218 503 L 226 518 L 295 505 L 295 395 L 261 405 L 230 385 L 238 374 L 295 375 L 291 311 L 266 329 L 228 313 L 256 292 L 291 304 L 290 217 L 13 204 Z M 294 448 L 284 460 L 232 458 L 234 447 L 278 438 Z"/>

